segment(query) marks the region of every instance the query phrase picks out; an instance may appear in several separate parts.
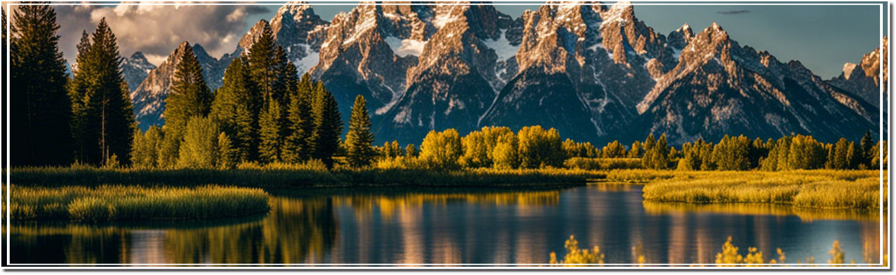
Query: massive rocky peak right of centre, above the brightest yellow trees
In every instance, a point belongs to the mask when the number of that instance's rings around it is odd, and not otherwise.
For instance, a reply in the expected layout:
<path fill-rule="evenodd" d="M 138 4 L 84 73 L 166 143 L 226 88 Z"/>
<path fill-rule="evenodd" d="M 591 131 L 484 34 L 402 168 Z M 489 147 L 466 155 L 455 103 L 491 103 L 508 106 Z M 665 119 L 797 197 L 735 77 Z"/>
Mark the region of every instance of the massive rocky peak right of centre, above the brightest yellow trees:
<path fill-rule="evenodd" d="M 634 105 L 675 63 L 666 38 L 634 17 L 631 4 L 547 4 L 521 18 L 519 73 L 481 126 L 539 124 L 599 141 L 628 127 Z"/>

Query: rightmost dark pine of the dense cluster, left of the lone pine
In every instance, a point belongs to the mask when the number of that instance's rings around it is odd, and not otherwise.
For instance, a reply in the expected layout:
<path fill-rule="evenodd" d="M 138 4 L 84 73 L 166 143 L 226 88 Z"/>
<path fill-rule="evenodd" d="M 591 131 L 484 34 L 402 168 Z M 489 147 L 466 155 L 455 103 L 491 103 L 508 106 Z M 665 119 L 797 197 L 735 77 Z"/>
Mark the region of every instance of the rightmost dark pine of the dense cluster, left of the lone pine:
<path fill-rule="evenodd" d="M 315 159 L 323 161 L 327 168 L 332 168 L 333 154 L 339 150 L 342 135 L 342 115 L 336 98 L 330 91 L 317 82 L 314 87 L 314 154 Z"/>

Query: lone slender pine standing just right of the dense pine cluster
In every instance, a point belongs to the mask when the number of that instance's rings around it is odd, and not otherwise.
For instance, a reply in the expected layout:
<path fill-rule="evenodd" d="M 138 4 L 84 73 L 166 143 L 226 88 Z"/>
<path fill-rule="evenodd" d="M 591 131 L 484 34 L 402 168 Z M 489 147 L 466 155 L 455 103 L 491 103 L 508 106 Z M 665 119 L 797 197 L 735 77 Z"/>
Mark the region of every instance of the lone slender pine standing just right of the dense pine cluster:
<path fill-rule="evenodd" d="M 370 132 L 370 116 L 367 114 L 367 106 L 364 96 L 355 97 L 355 104 L 351 107 L 349 119 L 349 134 L 345 137 L 348 151 L 349 165 L 364 167 L 374 161 L 374 134 Z M 395 143 L 398 146 L 398 143 Z M 401 147 L 398 148 L 401 150 Z"/>

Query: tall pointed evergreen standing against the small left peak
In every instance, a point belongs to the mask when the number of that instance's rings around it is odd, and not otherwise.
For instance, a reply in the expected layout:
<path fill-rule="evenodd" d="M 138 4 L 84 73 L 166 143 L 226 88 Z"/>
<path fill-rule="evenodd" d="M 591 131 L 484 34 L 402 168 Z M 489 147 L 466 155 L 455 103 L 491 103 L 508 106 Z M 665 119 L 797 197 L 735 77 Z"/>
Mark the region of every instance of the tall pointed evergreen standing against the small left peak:
<path fill-rule="evenodd" d="M 196 59 L 193 47 L 187 43 L 175 67 L 171 93 L 165 99 L 165 144 L 161 165 L 176 164 L 174 158 L 182 155 L 177 154 L 177 150 L 181 148 L 187 121 L 193 117 L 206 117 L 211 112 L 211 100 L 211 90 L 202 77 L 202 65 Z M 177 162 L 179 166 L 181 161 Z"/>

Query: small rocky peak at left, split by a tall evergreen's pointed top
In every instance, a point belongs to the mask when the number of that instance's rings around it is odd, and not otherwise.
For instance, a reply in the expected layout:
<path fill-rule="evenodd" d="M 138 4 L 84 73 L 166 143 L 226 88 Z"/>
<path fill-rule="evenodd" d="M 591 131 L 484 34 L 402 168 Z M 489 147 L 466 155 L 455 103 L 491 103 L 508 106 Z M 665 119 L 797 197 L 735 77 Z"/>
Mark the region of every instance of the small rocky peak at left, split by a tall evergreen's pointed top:
<path fill-rule="evenodd" d="M 149 129 L 152 125 L 164 125 L 165 120 L 162 116 L 165 112 L 165 99 L 171 92 L 171 82 L 174 78 L 174 70 L 181 55 L 184 54 L 185 47 L 190 46 L 186 41 L 177 46 L 173 53 L 168 55 L 165 62 L 159 64 L 147 73 L 145 79 L 139 86 L 131 92 L 131 102 L 134 104 L 134 117 L 137 124 L 142 130 Z M 227 65 L 238 54 L 225 54 L 221 59 L 211 57 L 205 52 L 199 44 L 195 44 L 193 52 L 202 65 L 202 76 L 211 90 L 215 90 L 222 85 L 224 78 L 224 70 Z M 129 84 L 130 85 L 130 84 Z"/>

